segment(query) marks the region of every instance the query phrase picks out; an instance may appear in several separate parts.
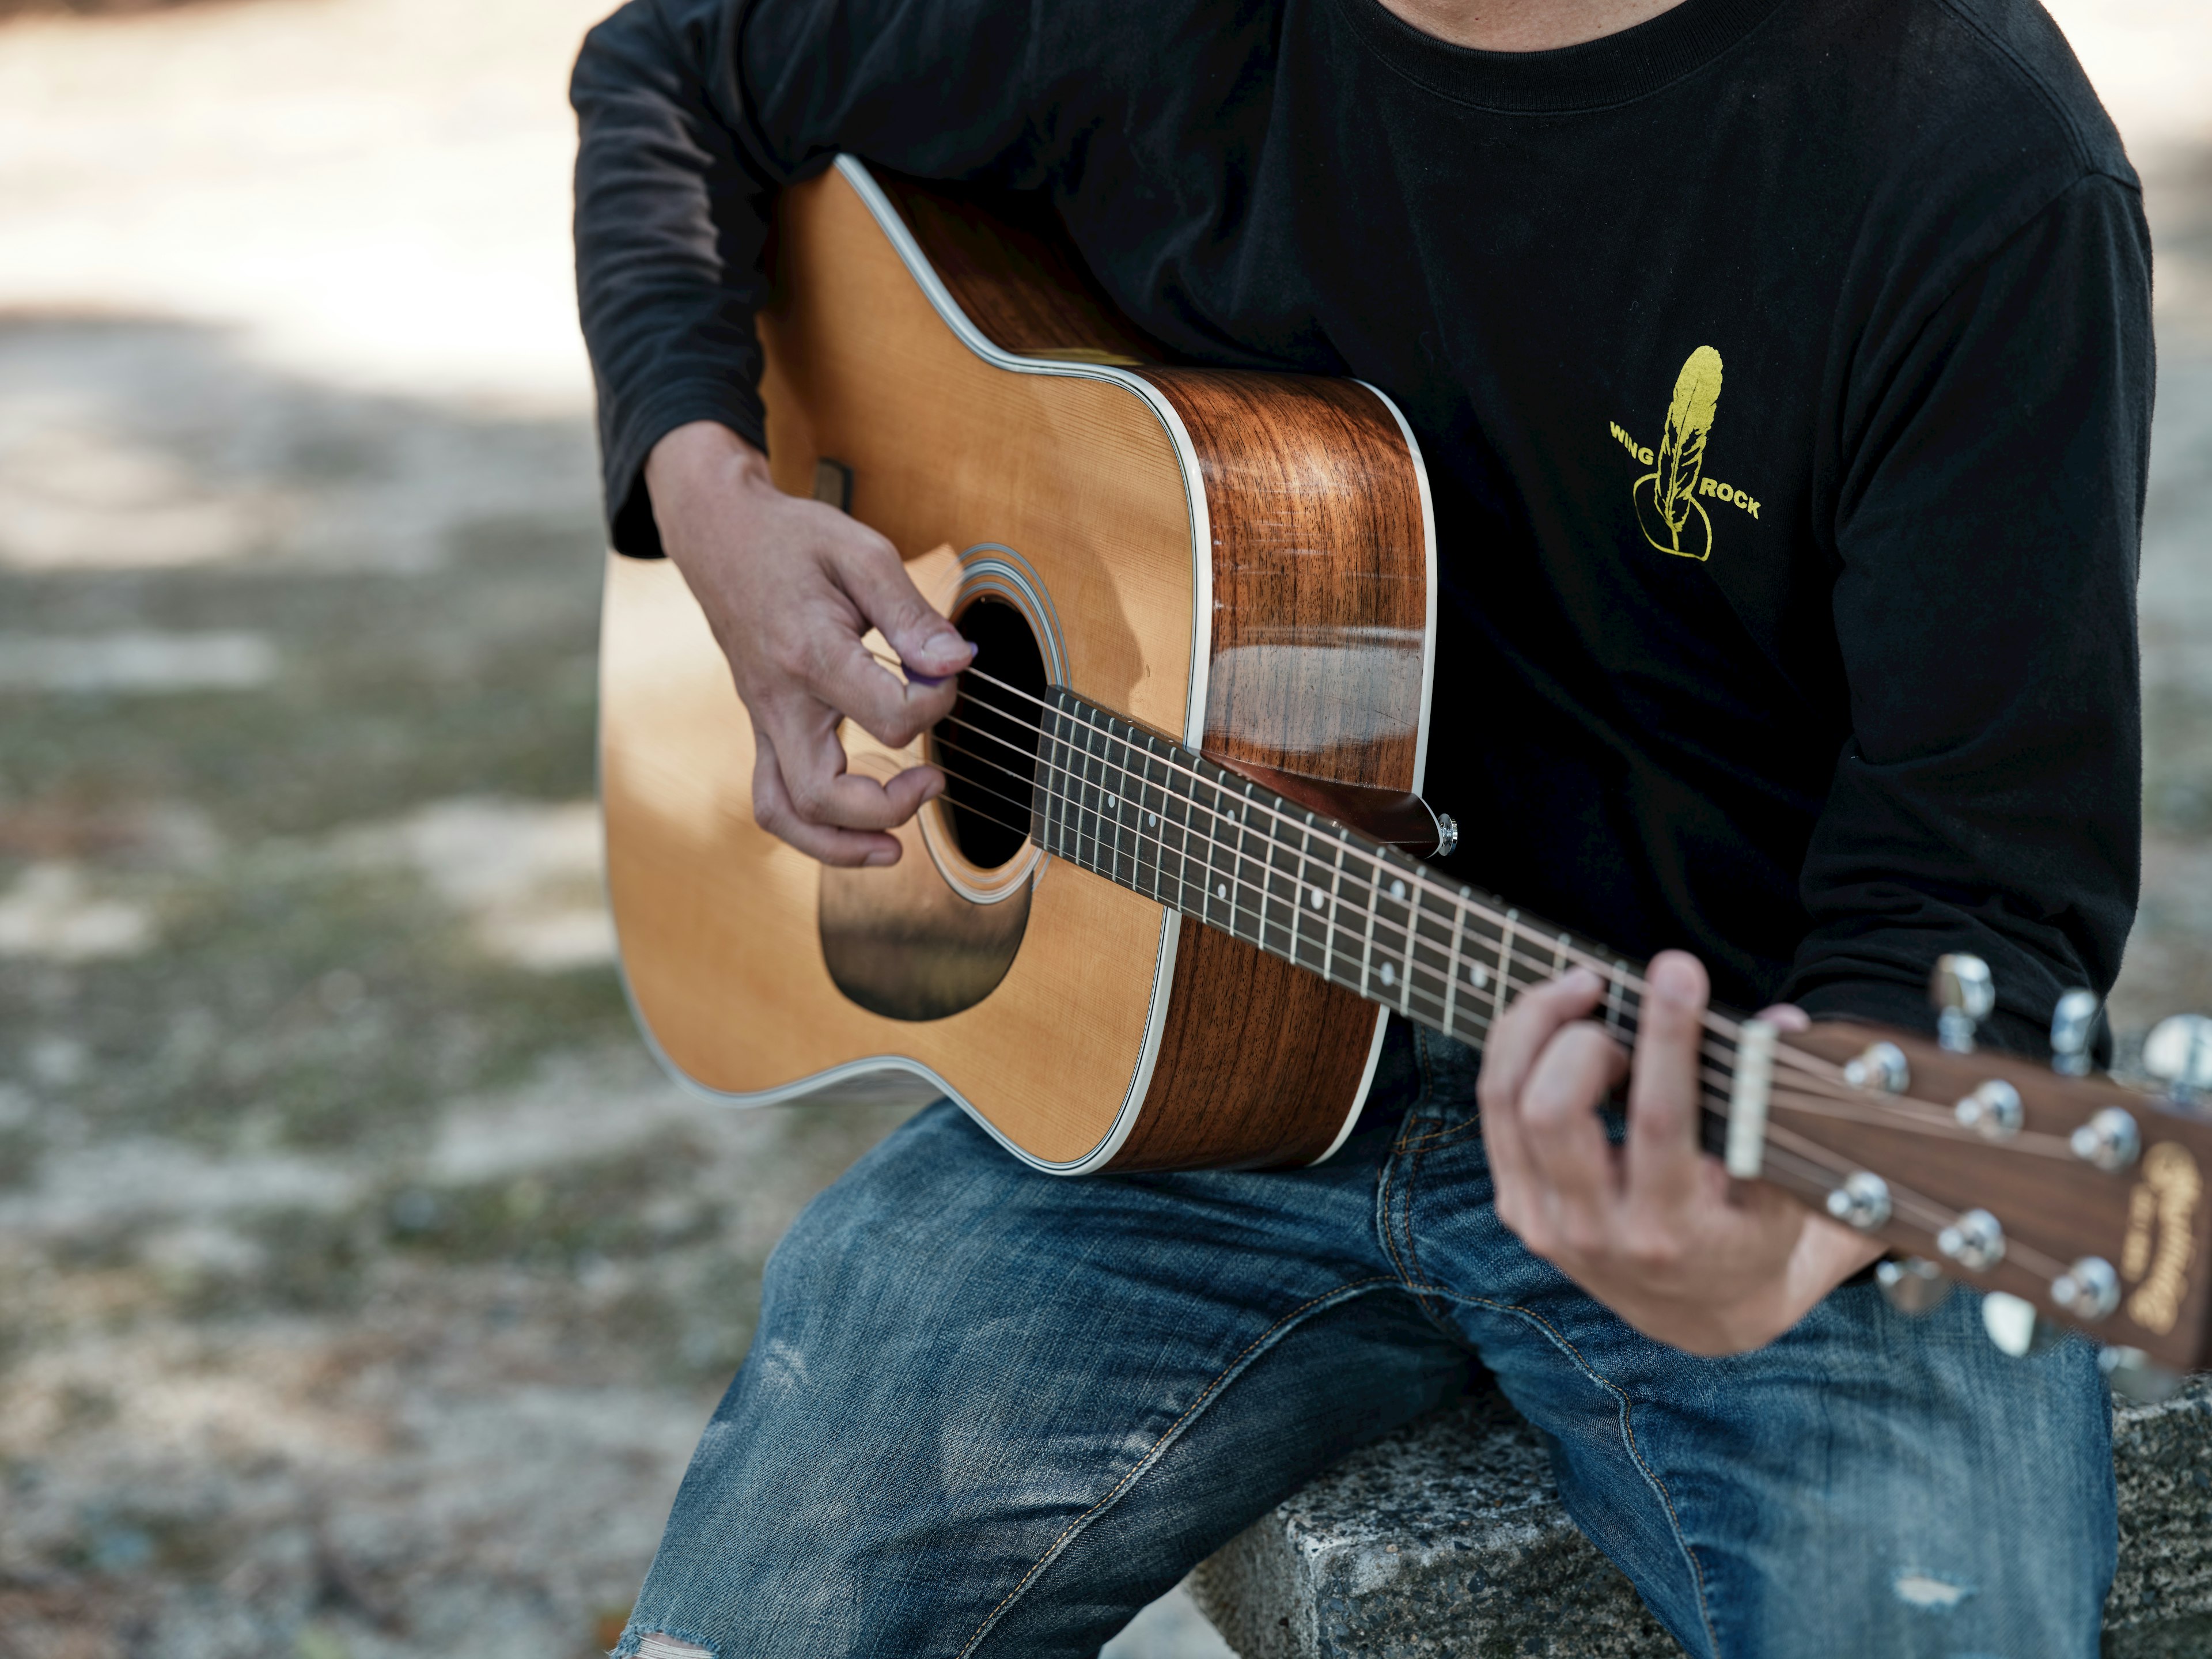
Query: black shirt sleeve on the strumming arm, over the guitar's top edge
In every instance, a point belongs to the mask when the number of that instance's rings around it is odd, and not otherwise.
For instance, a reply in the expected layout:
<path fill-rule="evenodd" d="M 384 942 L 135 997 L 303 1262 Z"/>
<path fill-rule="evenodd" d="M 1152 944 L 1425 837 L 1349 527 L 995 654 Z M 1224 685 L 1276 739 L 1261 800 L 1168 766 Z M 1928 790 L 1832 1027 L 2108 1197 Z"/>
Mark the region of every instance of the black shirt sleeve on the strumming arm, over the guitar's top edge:
<path fill-rule="evenodd" d="M 838 150 L 931 179 L 1046 188 L 1126 69 L 1126 18 L 989 0 L 630 0 L 584 40 L 577 310 L 608 535 L 655 557 L 653 445 L 719 420 L 765 449 L 754 312 L 774 197 Z M 1115 18 L 1119 18 L 1115 22 Z M 1099 71 L 1106 73 L 1099 73 Z"/>

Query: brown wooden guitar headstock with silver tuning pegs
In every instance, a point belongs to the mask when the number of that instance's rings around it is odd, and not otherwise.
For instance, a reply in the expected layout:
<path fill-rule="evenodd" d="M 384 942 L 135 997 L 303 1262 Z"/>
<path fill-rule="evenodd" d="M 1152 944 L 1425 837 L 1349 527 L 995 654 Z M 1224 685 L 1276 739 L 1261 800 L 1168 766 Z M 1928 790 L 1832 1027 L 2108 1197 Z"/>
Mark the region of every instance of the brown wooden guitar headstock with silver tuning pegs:
<path fill-rule="evenodd" d="M 2212 1115 L 2199 1108 L 2212 1020 L 2152 1033 L 2159 1097 L 2088 1075 L 2088 993 L 2055 1011 L 2055 1066 L 1975 1048 L 1986 989 L 1980 962 L 1944 958 L 1942 1042 L 1856 1022 L 1778 1035 L 1761 1172 L 2115 1349 L 2174 1371 L 2212 1363 Z M 1911 1279 L 1902 1290 L 1929 1296 L 1936 1281 Z"/>

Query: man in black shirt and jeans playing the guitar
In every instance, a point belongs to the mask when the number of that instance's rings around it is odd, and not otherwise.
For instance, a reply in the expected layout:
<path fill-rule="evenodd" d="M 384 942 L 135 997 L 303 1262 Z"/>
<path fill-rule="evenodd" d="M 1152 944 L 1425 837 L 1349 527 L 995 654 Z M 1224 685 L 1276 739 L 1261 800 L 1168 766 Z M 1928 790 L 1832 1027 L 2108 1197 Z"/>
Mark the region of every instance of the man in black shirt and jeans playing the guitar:
<path fill-rule="evenodd" d="M 710 619 L 761 825 L 896 858 L 945 776 L 838 726 L 905 743 L 969 664 L 763 460 L 772 201 L 852 150 L 1048 192 L 1181 358 L 1385 389 L 1455 867 L 1659 951 L 1632 1060 L 1588 973 L 1482 1055 L 1394 1022 L 1292 1175 L 1055 1181 L 914 1117 L 770 1261 L 619 1652 L 1097 1652 L 1478 1358 L 1690 1652 L 2093 1655 L 2090 1347 L 1891 1310 L 1880 1245 L 1697 1144 L 1708 982 L 1927 1024 L 1966 949 L 2031 1048 L 2117 973 L 2150 248 L 2039 7 L 633 0 L 575 104 L 613 540 Z"/>

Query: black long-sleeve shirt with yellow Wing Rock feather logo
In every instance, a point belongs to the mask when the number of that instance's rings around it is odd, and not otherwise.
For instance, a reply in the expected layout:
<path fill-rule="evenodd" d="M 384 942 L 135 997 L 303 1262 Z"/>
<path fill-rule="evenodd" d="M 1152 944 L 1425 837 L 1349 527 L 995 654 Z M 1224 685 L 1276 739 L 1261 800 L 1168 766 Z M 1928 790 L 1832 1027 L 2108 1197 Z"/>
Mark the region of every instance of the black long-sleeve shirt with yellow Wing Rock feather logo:
<path fill-rule="evenodd" d="M 577 270 L 615 546 L 763 442 L 765 215 L 852 150 L 1051 197 L 1175 352 L 1352 374 L 1436 493 L 1451 869 L 1717 993 L 2028 1046 L 2139 865 L 2150 246 L 2033 0 L 1683 0 L 1548 53 L 1376 0 L 633 0 Z"/>

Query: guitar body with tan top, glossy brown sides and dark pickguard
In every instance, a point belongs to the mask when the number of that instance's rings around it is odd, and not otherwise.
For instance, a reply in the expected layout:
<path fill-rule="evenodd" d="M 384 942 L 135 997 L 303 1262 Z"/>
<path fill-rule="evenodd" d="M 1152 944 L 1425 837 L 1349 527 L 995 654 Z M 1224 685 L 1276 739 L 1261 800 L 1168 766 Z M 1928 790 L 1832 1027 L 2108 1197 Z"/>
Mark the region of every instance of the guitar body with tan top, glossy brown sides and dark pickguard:
<path fill-rule="evenodd" d="M 1051 226 L 849 159 L 785 192 L 761 338 L 779 487 L 1011 639 L 980 670 L 1031 650 L 1223 763 L 1420 792 L 1433 526 L 1378 392 L 1168 365 Z M 951 1095 L 1068 1175 L 1310 1164 L 1365 1099 L 1383 1009 L 1020 832 L 969 856 L 931 803 L 896 867 L 827 872 L 757 827 L 750 721 L 666 562 L 608 564 L 602 796 L 637 1015 L 717 1097 Z"/>

